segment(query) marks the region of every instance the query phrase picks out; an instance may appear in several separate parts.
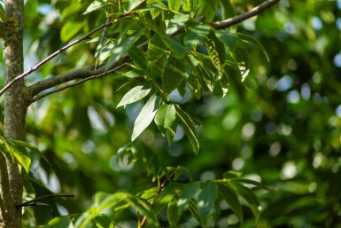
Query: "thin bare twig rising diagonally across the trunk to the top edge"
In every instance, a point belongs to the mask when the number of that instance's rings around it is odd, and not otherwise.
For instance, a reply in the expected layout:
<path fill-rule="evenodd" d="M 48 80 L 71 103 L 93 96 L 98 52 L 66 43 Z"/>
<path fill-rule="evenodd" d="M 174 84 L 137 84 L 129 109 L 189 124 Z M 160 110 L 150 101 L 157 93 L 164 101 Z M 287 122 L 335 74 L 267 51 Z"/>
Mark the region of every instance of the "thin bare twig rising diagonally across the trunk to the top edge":
<path fill-rule="evenodd" d="M 58 51 L 55 51 L 54 53 L 50 54 L 50 56 L 46 57 L 45 59 L 43 59 L 40 63 L 38 63 L 37 65 L 35 65 L 35 67 L 31 67 L 29 70 L 27 70 L 26 72 L 24 72 L 23 74 L 15 77 L 10 83 L 7 83 L 4 88 L 2 90 L 0 90 L 0 96 L 4 94 L 5 90 L 8 90 L 12 84 L 18 82 L 19 80 L 25 78 L 27 75 L 31 75 L 33 72 L 35 72 L 36 70 L 38 70 L 40 67 L 42 67 L 45 63 L 47 63 L 48 61 L 50 61 L 50 59 L 55 58 L 56 56 L 58 56 L 60 53 L 66 51 L 67 49 L 73 47 L 75 44 L 77 43 L 81 43 L 82 41 L 88 40 L 90 39 L 90 35 L 93 35 L 94 33 L 96 33 L 98 30 L 102 29 L 102 28 L 106 28 L 111 26 L 114 22 L 116 22 L 119 19 L 125 18 L 128 16 L 129 13 L 134 12 L 140 5 L 142 5 L 146 0 L 141 1 L 140 3 L 136 4 L 136 6 L 134 6 L 132 9 L 130 9 L 128 12 L 123 13 L 122 15 L 120 15 L 119 18 L 117 18 L 116 20 L 111 20 L 111 21 L 107 21 L 105 22 L 103 25 L 95 28 L 94 30 L 90 31 L 87 35 L 82 36 L 80 39 L 75 40 L 72 43 L 67 44 L 66 46 L 64 46 L 63 48 L 59 49 Z"/>

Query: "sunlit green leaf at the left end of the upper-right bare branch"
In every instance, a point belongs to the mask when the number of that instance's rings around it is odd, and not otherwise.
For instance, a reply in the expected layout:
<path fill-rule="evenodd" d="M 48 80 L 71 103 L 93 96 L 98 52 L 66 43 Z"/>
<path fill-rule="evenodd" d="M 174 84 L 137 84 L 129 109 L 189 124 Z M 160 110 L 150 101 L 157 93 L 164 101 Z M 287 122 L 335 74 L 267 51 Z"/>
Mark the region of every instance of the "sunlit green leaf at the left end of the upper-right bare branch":
<path fill-rule="evenodd" d="M 210 33 L 210 27 L 202 24 L 196 24 L 186 29 L 186 34 L 183 37 L 183 43 L 186 50 L 190 51 L 193 46 L 202 43 Z"/>

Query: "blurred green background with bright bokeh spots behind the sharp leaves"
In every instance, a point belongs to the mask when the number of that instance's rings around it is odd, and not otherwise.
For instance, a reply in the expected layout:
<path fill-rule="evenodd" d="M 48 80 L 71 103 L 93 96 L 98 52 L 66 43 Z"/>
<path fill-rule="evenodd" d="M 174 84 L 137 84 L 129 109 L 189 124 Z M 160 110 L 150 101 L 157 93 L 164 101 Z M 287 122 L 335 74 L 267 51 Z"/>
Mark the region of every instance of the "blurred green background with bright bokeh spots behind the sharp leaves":
<path fill-rule="evenodd" d="M 236 12 L 261 2 L 233 1 Z M 81 16 L 86 7 L 77 1 L 30 0 L 25 7 L 26 69 L 105 21 L 103 13 Z M 198 122 L 199 154 L 192 153 L 181 128 L 168 146 L 155 124 L 132 144 L 134 152 L 145 154 L 155 169 L 159 163 L 180 165 L 197 179 L 236 170 L 272 187 L 275 193 L 255 190 L 263 210 L 257 227 L 341 227 L 341 1 L 282 0 L 236 30 L 262 43 L 270 61 L 253 48 L 250 74 L 243 84 L 231 82 L 225 98 L 178 100 Z M 27 82 L 86 66 L 95 49 L 93 43 L 78 44 Z M 118 160 L 142 107 L 116 108 L 127 91 L 120 89 L 125 80 L 109 75 L 30 107 L 27 141 L 51 166 L 34 159 L 27 196 L 74 193 L 75 199 L 51 201 L 59 215 L 67 215 L 89 208 L 97 192 L 138 193 L 155 185 L 143 162 Z M 42 215 L 36 216 L 38 224 L 50 220 L 49 210 L 34 209 Z M 221 209 L 214 227 L 238 227 L 231 210 L 223 204 Z M 251 211 L 244 213 L 242 227 L 254 227 Z M 123 227 L 136 226 L 133 213 L 120 216 L 127 221 Z M 26 213 L 27 225 L 29 217 Z M 196 226 L 189 220 L 182 227 Z"/>

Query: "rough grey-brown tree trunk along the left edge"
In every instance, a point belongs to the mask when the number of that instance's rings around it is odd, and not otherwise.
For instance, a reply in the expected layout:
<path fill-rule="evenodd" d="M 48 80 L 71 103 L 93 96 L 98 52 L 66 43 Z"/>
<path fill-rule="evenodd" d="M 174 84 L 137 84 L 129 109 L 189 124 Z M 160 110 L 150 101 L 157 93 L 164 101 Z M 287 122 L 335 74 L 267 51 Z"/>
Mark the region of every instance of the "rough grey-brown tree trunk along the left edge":
<path fill-rule="evenodd" d="M 4 51 L 4 83 L 23 72 L 23 0 L 5 0 L 7 20 L 1 31 Z M 27 96 L 23 81 L 15 83 L 4 94 L 4 137 L 25 139 Z M 22 201 L 22 177 L 19 165 L 0 155 L 0 227 L 19 228 Z"/>

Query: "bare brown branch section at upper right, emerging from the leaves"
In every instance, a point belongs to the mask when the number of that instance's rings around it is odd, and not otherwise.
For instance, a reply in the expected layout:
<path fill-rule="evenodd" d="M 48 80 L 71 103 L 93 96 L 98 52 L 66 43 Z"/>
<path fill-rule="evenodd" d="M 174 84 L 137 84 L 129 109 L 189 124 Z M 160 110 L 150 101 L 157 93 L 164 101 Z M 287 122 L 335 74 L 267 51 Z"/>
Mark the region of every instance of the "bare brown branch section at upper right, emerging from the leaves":
<path fill-rule="evenodd" d="M 244 12 L 243 14 L 240 14 L 240 15 L 233 17 L 233 18 L 230 18 L 228 20 L 216 21 L 216 22 L 210 23 L 210 25 L 215 29 L 229 28 L 233 25 L 236 25 L 236 24 L 242 22 L 243 20 L 250 19 L 250 18 L 260 14 L 260 12 L 267 10 L 267 8 L 278 3 L 279 1 L 281 1 L 281 0 L 267 0 L 266 2 L 260 4 L 259 6 L 254 7 L 249 12 Z"/>

